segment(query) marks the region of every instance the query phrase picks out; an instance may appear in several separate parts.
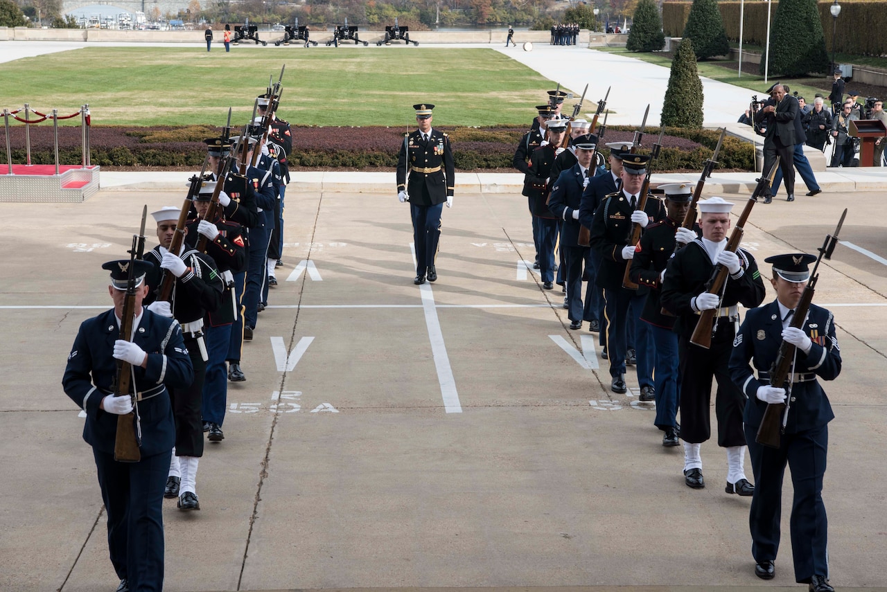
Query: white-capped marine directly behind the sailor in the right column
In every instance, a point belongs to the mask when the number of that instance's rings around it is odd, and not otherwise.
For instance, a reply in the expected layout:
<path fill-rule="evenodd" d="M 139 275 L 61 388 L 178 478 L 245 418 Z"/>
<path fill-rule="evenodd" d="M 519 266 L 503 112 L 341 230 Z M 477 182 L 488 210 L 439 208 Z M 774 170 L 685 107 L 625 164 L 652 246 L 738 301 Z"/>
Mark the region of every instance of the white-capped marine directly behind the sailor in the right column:
<path fill-rule="evenodd" d="M 640 320 L 648 323 L 653 333 L 655 352 L 655 401 L 656 417 L 653 425 L 665 432 L 663 446 L 678 446 L 680 427 L 678 405 L 678 335 L 672 331 L 674 316 L 663 315 L 660 289 L 665 268 L 674 253 L 675 244 L 687 245 L 696 239 L 693 230 L 680 224 L 687 215 L 694 185 L 672 183 L 660 185 L 665 192 L 665 217 L 648 225 L 640 235 L 638 247 L 632 257 L 632 282 L 648 289 L 647 300 L 640 313 Z"/>

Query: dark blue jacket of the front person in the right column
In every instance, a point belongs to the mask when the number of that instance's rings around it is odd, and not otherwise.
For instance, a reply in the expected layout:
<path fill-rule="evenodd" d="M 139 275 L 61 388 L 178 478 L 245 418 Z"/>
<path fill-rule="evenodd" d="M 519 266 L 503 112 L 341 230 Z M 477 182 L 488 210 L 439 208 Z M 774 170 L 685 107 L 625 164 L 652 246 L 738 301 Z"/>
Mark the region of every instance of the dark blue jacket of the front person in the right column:
<path fill-rule="evenodd" d="M 824 380 L 834 380 L 841 372 L 841 348 L 835 336 L 835 318 L 825 308 L 815 304 L 804 323 L 804 332 L 812 340 L 810 353 L 797 350 L 794 372 L 815 374 Z M 757 398 L 757 387 L 769 385 L 769 379 L 760 379 L 761 372 L 769 372 L 776 360 L 782 342 L 782 319 L 779 304 L 774 300 L 765 307 L 750 310 L 733 343 L 730 356 L 730 375 L 742 392 L 749 397 L 744 421 L 755 427 L 761 425 L 767 404 Z M 757 370 L 752 372 L 749 361 Z M 789 418 L 786 433 L 797 433 L 828 424 L 835 418 L 831 404 L 819 381 L 812 377 L 794 382 L 791 387 Z M 784 386 L 784 385 L 773 385 Z"/>

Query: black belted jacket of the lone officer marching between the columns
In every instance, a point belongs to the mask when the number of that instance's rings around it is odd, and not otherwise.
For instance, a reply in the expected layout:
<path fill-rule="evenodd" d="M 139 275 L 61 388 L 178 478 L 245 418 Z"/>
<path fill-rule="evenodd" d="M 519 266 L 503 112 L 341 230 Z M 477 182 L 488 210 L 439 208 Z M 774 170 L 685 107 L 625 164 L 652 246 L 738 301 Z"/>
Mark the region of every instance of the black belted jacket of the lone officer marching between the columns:
<path fill-rule="evenodd" d="M 397 155 L 397 191 L 405 188 L 413 206 L 436 206 L 453 194 L 455 167 L 450 138 L 436 129 L 430 133 L 428 142 L 422 140 L 418 129 L 404 136 Z"/>

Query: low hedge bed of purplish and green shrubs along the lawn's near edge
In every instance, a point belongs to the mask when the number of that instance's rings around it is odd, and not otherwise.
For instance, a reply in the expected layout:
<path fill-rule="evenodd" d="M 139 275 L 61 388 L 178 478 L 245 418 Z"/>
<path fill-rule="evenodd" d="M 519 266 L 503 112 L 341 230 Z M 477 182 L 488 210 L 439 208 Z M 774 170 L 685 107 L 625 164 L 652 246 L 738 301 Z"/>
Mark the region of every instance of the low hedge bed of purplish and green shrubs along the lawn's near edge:
<path fill-rule="evenodd" d="M 450 135 L 453 160 L 460 170 L 512 168 L 514 149 L 523 128 L 441 128 Z M 611 127 L 606 142 L 631 141 L 634 129 Z M 202 139 L 217 136 L 211 126 L 184 128 L 124 128 L 96 126 L 90 129 L 90 161 L 102 167 L 200 167 L 206 155 Z M 658 129 L 648 130 L 644 148 L 655 143 Z M 52 129 L 31 129 L 31 161 L 52 164 Z M 294 152 L 290 164 L 300 168 L 394 168 L 404 130 L 394 128 L 293 129 Z M 718 132 L 704 129 L 666 129 L 657 170 L 687 170 L 702 167 L 718 142 Z M 25 161 L 24 128 L 12 128 L 12 161 Z M 641 152 L 644 152 L 643 150 Z M 6 153 L 0 148 L 0 164 Z M 80 164 L 80 129 L 59 128 L 59 161 Z M 727 139 L 721 152 L 722 168 L 754 170 L 751 144 Z"/>

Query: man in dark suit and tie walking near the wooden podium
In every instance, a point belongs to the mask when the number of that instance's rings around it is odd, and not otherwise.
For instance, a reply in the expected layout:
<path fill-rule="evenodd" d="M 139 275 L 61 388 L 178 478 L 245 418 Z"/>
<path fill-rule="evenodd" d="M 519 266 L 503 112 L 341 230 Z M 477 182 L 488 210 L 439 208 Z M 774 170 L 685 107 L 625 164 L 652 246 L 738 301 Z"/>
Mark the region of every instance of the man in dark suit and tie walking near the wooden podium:
<path fill-rule="evenodd" d="M 773 162 L 779 158 L 782 174 L 785 175 L 785 191 L 789 194 L 788 201 L 795 200 L 795 120 L 798 112 L 797 98 L 787 97 L 785 87 L 774 84 L 770 88 L 770 98 L 755 113 L 755 121 L 767 129 L 764 136 L 764 170 L 770 170 Z M 772 201 L 772 195 L 764 199 L 765 204 Z"/>

